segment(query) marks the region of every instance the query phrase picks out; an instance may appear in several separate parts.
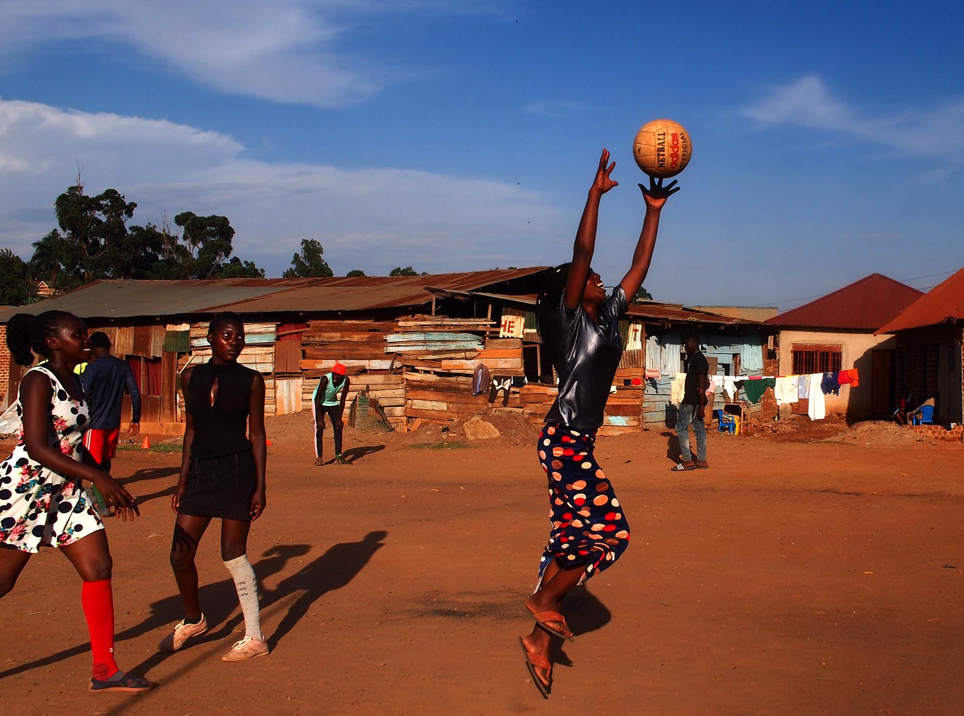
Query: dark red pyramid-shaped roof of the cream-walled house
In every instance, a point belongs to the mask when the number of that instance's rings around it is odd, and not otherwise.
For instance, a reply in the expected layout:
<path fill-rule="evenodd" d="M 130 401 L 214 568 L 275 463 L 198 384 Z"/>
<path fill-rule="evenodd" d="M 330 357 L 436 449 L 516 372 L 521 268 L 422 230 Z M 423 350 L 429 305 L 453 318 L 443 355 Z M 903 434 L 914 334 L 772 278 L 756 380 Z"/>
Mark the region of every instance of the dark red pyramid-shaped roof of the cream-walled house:
<path fill-rule="evenodd" d="M 922 295 L 916 288 L 893 278 L 870 274 L 766 323 L 781 328 L 876 331 Z"/>

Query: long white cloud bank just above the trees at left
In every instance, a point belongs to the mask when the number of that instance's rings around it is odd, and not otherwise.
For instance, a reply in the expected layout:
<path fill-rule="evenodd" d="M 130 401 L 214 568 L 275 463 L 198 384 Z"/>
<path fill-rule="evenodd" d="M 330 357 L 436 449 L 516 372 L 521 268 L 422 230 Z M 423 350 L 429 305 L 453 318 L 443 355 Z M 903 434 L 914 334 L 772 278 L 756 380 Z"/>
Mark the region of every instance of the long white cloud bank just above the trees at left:
<path fill-rule="evenodd" d="M 238 252 L 276 274 L 304 236 L 336 269 L 374 273 L 521 265 L 560 230 L 551 200 L 511 182 L 255 161 L 219 132 L 0 99 L 0 246 L 29 255 L 56 225 L 53 201 L 78 163 L 89 191 L 138 202 L 135 223 L 164 211 L 228 216 Z"/>

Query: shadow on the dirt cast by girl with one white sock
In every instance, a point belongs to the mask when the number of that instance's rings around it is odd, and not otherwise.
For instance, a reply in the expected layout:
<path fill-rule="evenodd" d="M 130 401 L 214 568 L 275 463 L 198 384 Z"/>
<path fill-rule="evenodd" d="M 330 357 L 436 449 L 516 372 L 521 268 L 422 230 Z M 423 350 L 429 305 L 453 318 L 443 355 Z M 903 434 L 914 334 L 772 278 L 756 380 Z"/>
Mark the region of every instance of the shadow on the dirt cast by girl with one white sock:
<path fill-rule="evenodd" d="M 359 542 L 334 544 L 328 550 L 281 583 L 267 595 L 262 593 L 261 609 L 301 591 L 303 594 L 292 604 L 274 634 L 268 638 L 268 646 L 274 650 L 296 623 L 308 613 L 308 609 L 318 597 L 341 589 L 354 579 L 379 549 L 385 546 L 388 537 L 385 530 L 369 532 Z"/>

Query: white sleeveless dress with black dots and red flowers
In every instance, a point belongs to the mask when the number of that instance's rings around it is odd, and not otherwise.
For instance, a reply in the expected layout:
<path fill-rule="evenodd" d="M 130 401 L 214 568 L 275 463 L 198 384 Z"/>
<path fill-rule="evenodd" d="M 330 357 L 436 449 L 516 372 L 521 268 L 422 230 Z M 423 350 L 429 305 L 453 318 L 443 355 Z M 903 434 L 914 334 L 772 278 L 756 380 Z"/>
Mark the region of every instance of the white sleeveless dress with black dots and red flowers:
<path fill-rule="evenodd" d="M 90 417 L 87 404 L 71 400 L 57 377 L 42 366 L 32 370 L 44 373 L 53 387 L 49 444 L 80 461 Z M 17 414 L 23 414 L 19 405 Z M 30 459 L 21 429 L 13 454 L 0 464 L 0 543 L 38 552 L 41 546 L 73 544 L 103 528 L 86 489 Z"/>

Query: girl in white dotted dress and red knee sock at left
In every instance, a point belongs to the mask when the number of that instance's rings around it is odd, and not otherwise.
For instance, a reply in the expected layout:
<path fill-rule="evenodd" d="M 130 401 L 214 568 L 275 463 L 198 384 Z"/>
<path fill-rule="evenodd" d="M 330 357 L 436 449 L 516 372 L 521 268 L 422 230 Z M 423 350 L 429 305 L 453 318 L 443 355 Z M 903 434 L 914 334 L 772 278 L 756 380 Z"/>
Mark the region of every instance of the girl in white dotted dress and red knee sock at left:
<path fill-rule="evenodd" d="M 7 347 L 23 366 L 46 358 L 20 381 L 23 421 L 13 454 L 0 464 L 0 597 L 13 589 L 31 554 L 59 547 L 83 580 L 80 602 L 91 635 L 91 691 L 149 691 L 156 684 L 126 674 L 114 661 L 111 552 L 89 485 L 123 521 L 140 516 L 130 492 L 91 463 L 82 438 L 90 419 L 73 369 L 91 359 L 84 322 L 65 311 L 36 318 L 19 313 L 7 325 Z M 13 644 L 10 645 L 13 647 Z"/>

